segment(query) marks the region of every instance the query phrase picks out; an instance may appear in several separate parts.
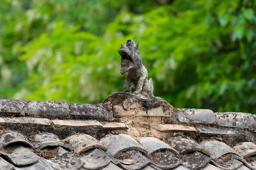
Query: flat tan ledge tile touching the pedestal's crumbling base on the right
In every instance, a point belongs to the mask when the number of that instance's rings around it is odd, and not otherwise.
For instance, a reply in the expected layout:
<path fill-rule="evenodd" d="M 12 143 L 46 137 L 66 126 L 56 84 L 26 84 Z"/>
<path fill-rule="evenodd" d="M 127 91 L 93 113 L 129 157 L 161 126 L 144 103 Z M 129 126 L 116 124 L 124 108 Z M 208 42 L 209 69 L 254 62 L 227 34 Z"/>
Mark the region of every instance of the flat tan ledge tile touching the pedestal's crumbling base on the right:
<path fill-rule="evenodd" d="M 156 129 L 160 130 L 161 132 L 181 132 L 181 131 L 196 132 L 195 127 L 173 125 L 173 124 L 158 124 Z"/>

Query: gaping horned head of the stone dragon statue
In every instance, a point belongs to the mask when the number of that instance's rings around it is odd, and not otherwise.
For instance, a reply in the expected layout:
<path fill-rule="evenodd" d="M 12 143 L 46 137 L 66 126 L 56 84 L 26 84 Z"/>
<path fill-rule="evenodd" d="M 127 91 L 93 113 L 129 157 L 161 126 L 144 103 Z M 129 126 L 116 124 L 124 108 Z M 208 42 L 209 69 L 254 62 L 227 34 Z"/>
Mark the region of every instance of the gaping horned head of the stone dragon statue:
<path fill-rule="evenodd" d="M 138 50 L 139 42 L 140 41 L 136 44 L 133 40 L 127 40 L 125 44 L 121 44 L 121 48 L 118 52 L 121 56 L 120 73 L 122 75 L 142 66 L 142 60 Z"/>

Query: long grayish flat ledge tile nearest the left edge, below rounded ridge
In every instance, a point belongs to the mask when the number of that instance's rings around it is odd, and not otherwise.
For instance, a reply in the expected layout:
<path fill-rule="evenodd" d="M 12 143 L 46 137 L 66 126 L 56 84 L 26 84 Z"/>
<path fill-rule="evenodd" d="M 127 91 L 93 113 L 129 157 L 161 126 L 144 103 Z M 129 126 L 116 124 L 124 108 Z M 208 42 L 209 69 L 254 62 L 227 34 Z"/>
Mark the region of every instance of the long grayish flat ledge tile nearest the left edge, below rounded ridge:
<path fill-rule="evenodd" d="M 18 124 L 35 124 L 35 125 L 51 125 L 52 121 L 45 118 L 30 118 L 30 117 L 15 117 L 15 118 L 3 118 L 7 123 Z"/>

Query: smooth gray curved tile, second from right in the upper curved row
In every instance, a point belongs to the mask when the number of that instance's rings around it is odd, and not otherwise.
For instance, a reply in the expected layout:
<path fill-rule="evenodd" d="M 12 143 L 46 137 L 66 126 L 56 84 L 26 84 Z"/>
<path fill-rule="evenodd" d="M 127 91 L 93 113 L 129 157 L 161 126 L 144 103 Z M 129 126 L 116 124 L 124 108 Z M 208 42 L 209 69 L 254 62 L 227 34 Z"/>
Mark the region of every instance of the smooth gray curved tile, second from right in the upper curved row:
<path fill-rule="evenodd" d="M 203 141 L 200 143 L 204 148 L 207 148 L 207 150 L 211 153 L 210 157 L 213 161 L 216 161 L 219 157 L 226 153 L 235 153 L 238 156 L 242 157 L 238 152 L 236 152 L 234 149 L 232 149 L 229 145 L 219 142 L 217 140 L 211 140 L 211 141 Z"/>

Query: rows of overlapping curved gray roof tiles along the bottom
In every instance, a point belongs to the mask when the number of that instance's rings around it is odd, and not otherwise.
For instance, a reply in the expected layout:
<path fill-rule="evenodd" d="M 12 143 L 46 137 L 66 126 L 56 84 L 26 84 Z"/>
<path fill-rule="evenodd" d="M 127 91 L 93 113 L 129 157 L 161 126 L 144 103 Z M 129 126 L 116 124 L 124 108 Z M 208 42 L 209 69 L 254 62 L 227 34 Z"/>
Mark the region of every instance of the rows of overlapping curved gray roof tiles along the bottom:
<path fill-rule="evenodd" d="M 52 133 L 12 131 L 1 135 L 0 143 L 0 170 L 256 170 L 251 142 L 231 148 L 217 140 L 198 144 L 187 136 L 136 141 L 119 134 L 99 141 L 75 134 L 61 140 Z"/>

